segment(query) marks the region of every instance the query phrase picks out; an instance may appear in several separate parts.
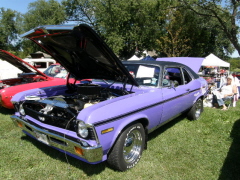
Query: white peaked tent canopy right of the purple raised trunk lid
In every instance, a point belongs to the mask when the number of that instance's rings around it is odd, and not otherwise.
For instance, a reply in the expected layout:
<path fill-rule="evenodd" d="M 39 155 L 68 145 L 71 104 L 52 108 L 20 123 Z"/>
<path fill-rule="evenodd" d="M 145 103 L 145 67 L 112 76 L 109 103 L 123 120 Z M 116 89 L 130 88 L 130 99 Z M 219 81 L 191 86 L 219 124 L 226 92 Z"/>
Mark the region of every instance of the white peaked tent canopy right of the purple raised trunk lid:
<path fill-rule="evenodd" d="M 230 67 L 230 63 L 221 60 L 214 54 L 209 54 L 202 62 L 202 66 Z"/>

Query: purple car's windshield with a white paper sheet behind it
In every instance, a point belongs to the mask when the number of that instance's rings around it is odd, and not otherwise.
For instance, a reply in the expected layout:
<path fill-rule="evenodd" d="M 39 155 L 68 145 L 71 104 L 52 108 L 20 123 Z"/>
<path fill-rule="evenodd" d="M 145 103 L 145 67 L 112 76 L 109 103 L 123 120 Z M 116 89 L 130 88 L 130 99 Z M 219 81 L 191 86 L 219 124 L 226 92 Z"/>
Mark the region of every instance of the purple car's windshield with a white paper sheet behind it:
<path fill-rule="evenodd" d="M 158 85 L 160 68 L 153 65 L 125 64 L 124 65 L 139 85 Z"/>

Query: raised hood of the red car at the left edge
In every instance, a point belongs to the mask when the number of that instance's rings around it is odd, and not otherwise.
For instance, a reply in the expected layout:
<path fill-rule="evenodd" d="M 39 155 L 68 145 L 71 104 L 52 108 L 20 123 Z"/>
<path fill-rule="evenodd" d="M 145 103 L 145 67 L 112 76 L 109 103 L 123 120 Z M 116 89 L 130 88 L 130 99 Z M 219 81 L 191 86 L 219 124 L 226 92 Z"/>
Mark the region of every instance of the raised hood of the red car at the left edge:
<path fill-rule="evenodd" d="M 44 73 L 39 71 L 37 68 L 31 66 L 27 62 L 23 61 L 21 58 L 2 49 L 0 49 L 0 59 L 7 61 L 8 63 L 12 64 L 13 66 L 20 69 L 24 73 L 35 72 L 37 74 L 47 77 Z"/>

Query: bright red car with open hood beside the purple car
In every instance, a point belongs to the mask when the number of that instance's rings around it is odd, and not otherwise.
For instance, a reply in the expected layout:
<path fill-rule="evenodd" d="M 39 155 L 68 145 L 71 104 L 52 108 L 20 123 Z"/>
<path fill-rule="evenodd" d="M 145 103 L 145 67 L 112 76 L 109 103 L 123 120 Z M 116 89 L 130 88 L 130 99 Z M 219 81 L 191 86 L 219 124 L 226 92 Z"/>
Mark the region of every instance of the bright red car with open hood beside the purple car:
<path fill-rule="evenodd" d="M 22 71 L 22 73 L 18 74 L 17 78 L 0 80 L 0 106 L 5 108 L 13 109 L 10 100 L 15 94 L 21 91 L 48 86 L 66 85 L 67 80 L 65 79 L 66 76 L 64 76 L 66 75 L 65 69 L 63 75 L 57 76 L 61 78 L 57 78 L 56 76 L 53 76 L 53 74 L 39 71 L 19 57 L 1 49 L 0 59 L 9 62 Z M 56 67 L 60 67 L 60 65 L 53 64 L 45 70 L 45 72 L 51 72 L 54 69 L 61 69 Z M 58 72 L 55 71 L 55 73 Z"/>

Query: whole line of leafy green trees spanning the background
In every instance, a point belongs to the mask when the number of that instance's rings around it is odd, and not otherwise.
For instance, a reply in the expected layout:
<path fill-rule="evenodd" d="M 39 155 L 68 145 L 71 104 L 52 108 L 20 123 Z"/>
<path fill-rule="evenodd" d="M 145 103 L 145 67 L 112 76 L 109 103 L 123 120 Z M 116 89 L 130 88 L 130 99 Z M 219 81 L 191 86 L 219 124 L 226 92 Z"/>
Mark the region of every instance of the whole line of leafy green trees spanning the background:
<path fill-rule="evenodd" d="M 19 38 L 36 26 L 85 23 L 93 27 L 121 58 L 144 50 L 158 57 L 226 59 L 238 50 L 238 1 L 220 0 L 37 0 L 20 14 L 0 9 L 0 48 L 25 57 L 38 47 Z M 225 26 L 224 26 L 225 25 Z"/>

